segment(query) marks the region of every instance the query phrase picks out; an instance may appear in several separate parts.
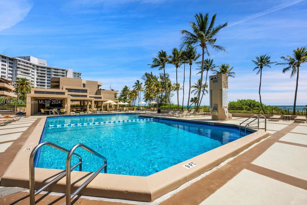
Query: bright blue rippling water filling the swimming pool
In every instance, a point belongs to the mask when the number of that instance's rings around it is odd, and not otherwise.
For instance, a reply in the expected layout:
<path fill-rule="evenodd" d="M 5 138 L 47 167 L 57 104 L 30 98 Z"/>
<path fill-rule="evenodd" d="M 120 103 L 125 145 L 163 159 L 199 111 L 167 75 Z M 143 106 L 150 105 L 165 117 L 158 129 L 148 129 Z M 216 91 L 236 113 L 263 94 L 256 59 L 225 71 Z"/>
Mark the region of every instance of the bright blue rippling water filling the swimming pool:
<path fill-rule="evenodd" d="M 47 118 L 41 141 L 50 141 L 68 150 L 83 143 L 107 158 L 108 173 L 148 176 L 240 138 L 238 128 L 234 127 L 161 119 L 48 126 L 145 118 L 131 114 Z M 77 148 L 76 153 L 82 156 L 83 171 L 95 172 L 103 164 L 102 159 L 82 148 Z M 40 168 L 65 169 L 66 156 L 44 146 L 36 164 Z M 77 161 L 73 157 L 72 165 Z"/>

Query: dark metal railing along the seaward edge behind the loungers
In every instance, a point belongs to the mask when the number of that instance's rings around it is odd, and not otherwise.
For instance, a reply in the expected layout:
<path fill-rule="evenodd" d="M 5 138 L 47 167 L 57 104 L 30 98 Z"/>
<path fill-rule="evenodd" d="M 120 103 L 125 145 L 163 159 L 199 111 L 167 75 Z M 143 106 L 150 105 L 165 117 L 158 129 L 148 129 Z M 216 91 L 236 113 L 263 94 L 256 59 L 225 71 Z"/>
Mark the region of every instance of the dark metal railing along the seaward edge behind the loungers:
<path fill-rule="evenodd" d="M 187 107 L 184 107 L 186 109 Z M 177 111 L 178 108 L 158 108 L 164 111 Z M 179 108 L 181 111 L 182 107 Z M 189 109 L 194 109 L 194 106 L 191 106 Z M 211 108 L 204 108 L 200 106 L 200 109 L 204 109 L 204 112 L 210 112 Z M 265 113 L 262 108 L 228 108 L 230 113 L 243 113 L 243 114 L 268 114 L 268 115 L 293 115 L 293 108 L 265 108 Z M 307 116 L 307 108 L 296 108 L 295 115 L 305 115 Z"/>

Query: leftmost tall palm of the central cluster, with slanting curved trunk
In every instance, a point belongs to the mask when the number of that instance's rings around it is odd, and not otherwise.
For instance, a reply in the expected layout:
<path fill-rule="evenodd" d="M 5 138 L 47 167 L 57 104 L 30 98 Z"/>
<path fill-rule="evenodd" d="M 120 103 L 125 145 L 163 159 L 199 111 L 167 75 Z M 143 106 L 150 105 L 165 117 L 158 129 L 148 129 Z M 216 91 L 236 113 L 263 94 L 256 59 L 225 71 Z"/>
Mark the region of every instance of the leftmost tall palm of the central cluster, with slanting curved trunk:
<path fill-rule="evenodd" d="M 169 56 L 166 54 L 166 51 L 161 50 L 158 52 L 157 57 L 153 57 L 153 63 L 148 64 L 150 65 L 150 68 L 159 68 L 159 70 L 163 69 L 163 77 L 164 77 L 164 83 L 165 83 L 165 96 L 168 99 L 169 106 L 171 106 L 171 102 L 169 100 L 169 95 L 167 91 L 167 83 L 166 83 L 166 77 L 165 77 L 165 65 L 169 63 Z"/>

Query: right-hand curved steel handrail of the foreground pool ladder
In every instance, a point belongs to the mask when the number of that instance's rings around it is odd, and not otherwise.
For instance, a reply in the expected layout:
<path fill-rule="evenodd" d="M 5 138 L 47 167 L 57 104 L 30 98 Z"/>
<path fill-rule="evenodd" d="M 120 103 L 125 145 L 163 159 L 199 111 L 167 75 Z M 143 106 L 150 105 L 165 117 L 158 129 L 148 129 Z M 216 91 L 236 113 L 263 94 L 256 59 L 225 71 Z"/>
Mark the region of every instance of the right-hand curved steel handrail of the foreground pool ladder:
<path fill-rule="evenodd" d="M 70 163 L 71 163 L 71 158 L 72 155 L 74 154 L 76 148 L 81 147 L 83 149 L 85 149 L 88 152 L 91 152 L 92 154 L 98 156 L 99 158 L 104 160 L 104 164 L 94 173 L 92 174 L 80 187 L 78 187 L 76 189 L 76 191 L 74 191 L 71 194 L 71 167 L 70 167 Z M 80 191 L 82 188 L 86 187 L 88 183 L 90 183 L 98 174 L 101 170 L 104 169 L 104 173 L 107 173 L 107 159 L 102 156 L 101 154 L 99 154 L 98 152 L 94 151 L 93 149 L 87 147 L 86 145 L 79 143 L 76 144 L 75 146 L 72 147 L 72 149 L 69 151 L 68 155 L 67 155 L 67 159 L 66 159 L 66 205 L 71 204 L 71 199 L 74 198 Z"/>

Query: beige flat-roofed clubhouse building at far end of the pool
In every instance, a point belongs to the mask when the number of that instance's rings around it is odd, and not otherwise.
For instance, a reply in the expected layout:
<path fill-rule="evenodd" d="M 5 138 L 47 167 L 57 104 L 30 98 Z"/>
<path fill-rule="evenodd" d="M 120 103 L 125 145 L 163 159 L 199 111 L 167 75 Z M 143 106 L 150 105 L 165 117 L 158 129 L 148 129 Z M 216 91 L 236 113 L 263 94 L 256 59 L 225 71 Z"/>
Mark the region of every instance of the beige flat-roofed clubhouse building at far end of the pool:
<path fill-rule="evenodd" d="M 44 108 L 64 108 L 69 115 L 71 108 L 88 108 L 90 104 L 92 108 L 98 108 L 108 100 L 118 102 L 115 100 L 117 90 L 99 89 L 100 86 L 102 83 L 98 81 L 53 77 L 50 89 L 32 88 L 31 93 L 27 94 L 26 116 L 31 116 Z M 75 107 L 71 107 L 71 104 L 75 104 Z M 109 104 L 106 105 L 108 108 Z"/>

